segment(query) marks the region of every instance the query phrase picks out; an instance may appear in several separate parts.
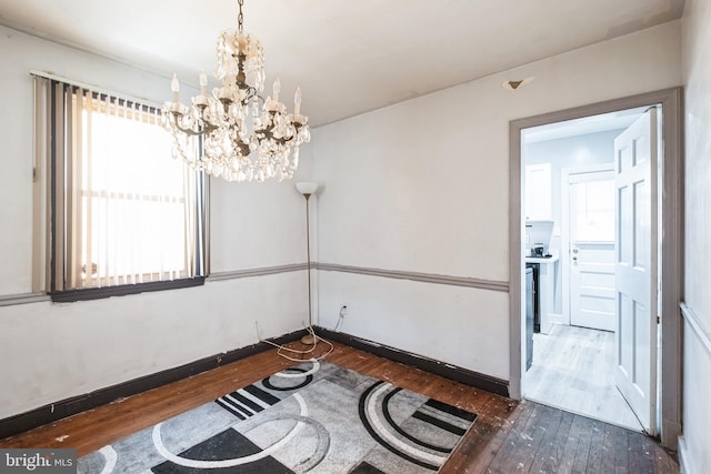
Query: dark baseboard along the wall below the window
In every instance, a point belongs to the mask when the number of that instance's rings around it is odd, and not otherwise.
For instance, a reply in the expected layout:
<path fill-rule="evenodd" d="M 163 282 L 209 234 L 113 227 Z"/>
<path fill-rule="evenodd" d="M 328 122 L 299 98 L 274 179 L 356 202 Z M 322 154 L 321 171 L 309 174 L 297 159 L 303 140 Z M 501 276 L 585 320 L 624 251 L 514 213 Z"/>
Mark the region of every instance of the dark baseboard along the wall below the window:
<path fill-rule="evenodd" d="M 304 334 L 306 330 L 300 330 L 279 337 L 270 339 L 269 341 L 276 344 L 287 344 L 289 342 L 298 341 Z M 211 355 L 179 367 L 168 369 L 154 374 L 122 382 L 117 385 L 99 389 L 91 393 L 50 403 L 30 412 L 0 420 L 0 438 L 22 433 L 47 423 L 52 423 L 78 413 L 86 412 L 87 410 L 106 405 L 119 399 L 136 395 L 172 382 L 178 382 L 191 375 L 217 369 L 221 365 L 259 354 L 260 352 L 264 352 L 270 349 L 273 349 L 273 346 L 266 342 L 259 342 L 257 344 L 248 345 L 247 347 Z"/>

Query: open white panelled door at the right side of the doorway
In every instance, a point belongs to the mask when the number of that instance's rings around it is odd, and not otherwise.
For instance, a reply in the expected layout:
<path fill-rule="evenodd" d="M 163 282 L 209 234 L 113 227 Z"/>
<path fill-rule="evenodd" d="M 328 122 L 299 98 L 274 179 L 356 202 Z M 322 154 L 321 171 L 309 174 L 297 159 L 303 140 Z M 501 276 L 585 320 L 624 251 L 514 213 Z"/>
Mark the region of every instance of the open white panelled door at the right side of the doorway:
<path fill-rule="evenodd" d="M 614 140 L 617 189 L 615 383 L 657 434 L 657 110 Z"/>

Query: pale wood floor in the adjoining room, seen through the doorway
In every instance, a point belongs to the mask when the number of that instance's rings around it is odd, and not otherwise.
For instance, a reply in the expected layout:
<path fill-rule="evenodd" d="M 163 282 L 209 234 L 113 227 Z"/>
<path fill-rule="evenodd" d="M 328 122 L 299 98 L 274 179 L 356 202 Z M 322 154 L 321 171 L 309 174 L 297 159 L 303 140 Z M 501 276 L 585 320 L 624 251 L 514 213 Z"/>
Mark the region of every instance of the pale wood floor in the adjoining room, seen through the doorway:
<path fill-rule="evenodd" d="M 523 391 L 529 400 L 642 431 L 614 385 L 614 333 L 555 324 L 533 334 Z"/>

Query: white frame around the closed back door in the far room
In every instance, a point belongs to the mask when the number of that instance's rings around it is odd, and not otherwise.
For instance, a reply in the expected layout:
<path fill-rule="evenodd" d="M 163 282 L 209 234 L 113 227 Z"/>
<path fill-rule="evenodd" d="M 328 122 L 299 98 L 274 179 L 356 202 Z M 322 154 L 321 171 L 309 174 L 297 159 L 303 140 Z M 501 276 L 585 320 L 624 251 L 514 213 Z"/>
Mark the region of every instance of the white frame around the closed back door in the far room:
<path fill-rule="evenodd" d="M 569 325 L 572 324 L 572 315 L 570 312 L 570 189 L 568 184 L 571 174 L 601 173 L 605 171 L 614 171 L 614 161 L 611 161 L 610 164 L 583 164 L 560 170 L 560 289 L 563 310 L 562 319 Z M 563 190 L 568 191 L 563 192 Z"/>

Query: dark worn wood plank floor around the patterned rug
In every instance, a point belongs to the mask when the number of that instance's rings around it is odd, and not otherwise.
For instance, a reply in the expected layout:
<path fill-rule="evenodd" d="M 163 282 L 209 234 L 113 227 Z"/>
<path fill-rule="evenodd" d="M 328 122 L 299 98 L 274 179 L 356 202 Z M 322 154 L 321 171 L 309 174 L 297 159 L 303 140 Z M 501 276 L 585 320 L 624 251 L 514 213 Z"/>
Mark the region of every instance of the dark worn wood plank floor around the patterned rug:
<path fill-rule="evenodd" d="M 641 433 L 534 402 L 518 403 L 347 345 L 334 346 L 330 362 L 479 415 L 442 473 L 679 472 L 673 453 Z M 74 447 L 82 456 L 290 365 L 276 351 L 264 352 L 0 440 L 0 447 Z"/>

